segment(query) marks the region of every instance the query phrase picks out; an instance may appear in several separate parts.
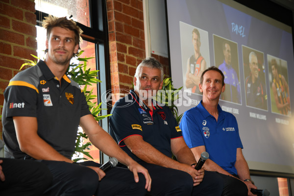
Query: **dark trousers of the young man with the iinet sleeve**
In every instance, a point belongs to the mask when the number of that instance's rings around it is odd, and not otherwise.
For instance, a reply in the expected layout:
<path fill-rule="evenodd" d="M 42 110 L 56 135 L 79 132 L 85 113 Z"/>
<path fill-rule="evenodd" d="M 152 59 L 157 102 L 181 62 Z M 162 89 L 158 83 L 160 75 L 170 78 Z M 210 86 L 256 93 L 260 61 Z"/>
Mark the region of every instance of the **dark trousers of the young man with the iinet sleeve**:
<path fill-rule="evenodd" d="M 99 167 L 101 164 L 93 161 L 83 162 L 82 165 L 45 161 L 53 175 L 53 184 L 46 191 L 48 196 L 145 196 L 146 180 L 142 173 L 136 183 L 134 175 L 128 169 L 112 168 L 105 172 L 99 181 L 98 174 L 85 166 Z"/>

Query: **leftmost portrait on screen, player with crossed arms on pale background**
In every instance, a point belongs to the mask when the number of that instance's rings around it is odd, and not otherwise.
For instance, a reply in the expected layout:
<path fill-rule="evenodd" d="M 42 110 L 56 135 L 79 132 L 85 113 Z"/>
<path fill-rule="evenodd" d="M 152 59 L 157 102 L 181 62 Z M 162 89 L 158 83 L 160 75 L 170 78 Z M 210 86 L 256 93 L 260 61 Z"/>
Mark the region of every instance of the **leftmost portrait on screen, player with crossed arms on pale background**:
<path fill-rule="evenodd" d="M 180 22 L 183 87 L 185 91 L 201 95 L 201 73 L 210 67 L 208 32 Z"/>

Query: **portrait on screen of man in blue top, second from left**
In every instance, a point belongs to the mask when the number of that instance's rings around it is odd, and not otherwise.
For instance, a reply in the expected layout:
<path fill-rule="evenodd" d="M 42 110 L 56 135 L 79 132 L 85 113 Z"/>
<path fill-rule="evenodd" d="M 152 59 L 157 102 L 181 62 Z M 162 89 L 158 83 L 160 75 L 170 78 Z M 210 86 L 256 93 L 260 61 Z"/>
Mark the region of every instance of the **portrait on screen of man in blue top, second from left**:
<path fill-rule="evenodd" d="M 238 44 L 217 35 L 213 35 L 213 44 L 216 67 L 224 75 L 225 91 L 220 99 L 242 104 Z"/>

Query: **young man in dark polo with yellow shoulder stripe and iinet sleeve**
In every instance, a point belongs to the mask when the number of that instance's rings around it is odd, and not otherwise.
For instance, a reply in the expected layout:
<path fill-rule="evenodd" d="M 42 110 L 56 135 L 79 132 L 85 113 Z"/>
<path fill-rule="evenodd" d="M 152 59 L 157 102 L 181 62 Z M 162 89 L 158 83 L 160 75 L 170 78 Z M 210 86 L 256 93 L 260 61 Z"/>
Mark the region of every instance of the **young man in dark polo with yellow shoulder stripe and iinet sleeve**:
<path fill-rule="evenodd" d="M 46 195 L 145 196 L 151 186 L 147 170 L 99 126 L 80 87 L 65 74 L 78 52 L 82 30 L 66 17 L 49 16 L 43 26 L 47 29 L 46 59 L 18 73 L 4 92 L 5 156 L 46 164 L 53 175 Z M 73 164 L 78 125 L 94 146 L 129 170 L 112 168 L 105 174 L 95 162 Z"/>

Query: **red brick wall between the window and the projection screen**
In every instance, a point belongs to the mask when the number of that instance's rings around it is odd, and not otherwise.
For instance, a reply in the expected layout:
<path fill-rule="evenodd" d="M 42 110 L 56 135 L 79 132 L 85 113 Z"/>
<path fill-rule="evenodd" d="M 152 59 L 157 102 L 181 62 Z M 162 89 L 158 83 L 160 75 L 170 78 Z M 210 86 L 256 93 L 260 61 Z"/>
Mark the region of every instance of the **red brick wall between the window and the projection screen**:
<path fill-rule="evenodd" d="M 107 0 L 107 16 L 111 88 L 119 98 L 119 89 L 132 88 L 136 67 L 146 57 L 143 1 Z M 152 56 L 164 65 L 169 76 L 168 58 Z"/>

